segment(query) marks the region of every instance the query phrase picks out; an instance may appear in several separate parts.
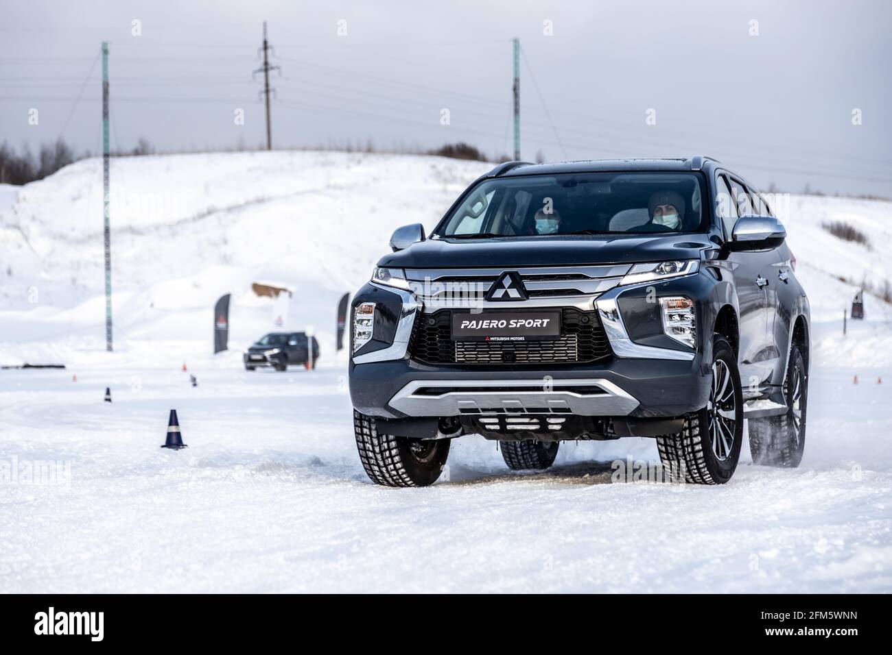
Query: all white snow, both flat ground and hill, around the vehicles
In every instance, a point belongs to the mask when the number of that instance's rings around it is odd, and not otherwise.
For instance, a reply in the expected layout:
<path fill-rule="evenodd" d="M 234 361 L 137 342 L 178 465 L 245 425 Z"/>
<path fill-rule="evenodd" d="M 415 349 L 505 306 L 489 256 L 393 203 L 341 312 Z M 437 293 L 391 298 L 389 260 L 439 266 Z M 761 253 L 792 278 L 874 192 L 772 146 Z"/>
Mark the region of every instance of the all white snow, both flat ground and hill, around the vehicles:
<path fill-rule="evenodd" d="M 723 487 L 617 483 L 615 460 L 657 462 L 651 440 L 622 439 L 564 444 L 551 470 L 518 474 L 495 444 L 461 438 L 434 487 L 368 481 L 336 300 L 393 227 L 433 225 L 486 168 L 337 152 L 115 160 L 113 354 L 100 162 L 7 192 L 0 364 L 67 368 L 0 371 L 0 592 L 892 591 L 892 307 L 868 295 L 843 337 L 854 288 L 837 279 L 892 276 L 888 202 L 789 199 L 814 320 L 797 470 L 754 466 L 745 445 Z M 870 247 L 822 230 L 838 219 Z M 318 370 L 241 367 L 238 348 L 271 327 L 255 280 L 296 288 L 290 325 L 316 327 Z M 215 357 L 223 292 L 233 349 Z M 178 452 L 159 447 L 171 408 Z"/>

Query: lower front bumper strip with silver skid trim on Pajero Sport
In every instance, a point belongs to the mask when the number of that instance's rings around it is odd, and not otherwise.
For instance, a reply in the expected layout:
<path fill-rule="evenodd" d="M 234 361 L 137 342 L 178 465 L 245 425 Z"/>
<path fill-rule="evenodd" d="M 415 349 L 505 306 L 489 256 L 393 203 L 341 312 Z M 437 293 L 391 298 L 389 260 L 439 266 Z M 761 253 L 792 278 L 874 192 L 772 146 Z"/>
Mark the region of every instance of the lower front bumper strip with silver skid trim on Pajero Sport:
<path fill-rule="evenodd" d="M 606 364 L 511 371 L 432 367 L 408 359 L 355 364 L 350 393 L 361 413 L 381 418 L 462 414 L 573 413 L 673 417 L 706 406 L 701 358 L 613 358 Z"/>

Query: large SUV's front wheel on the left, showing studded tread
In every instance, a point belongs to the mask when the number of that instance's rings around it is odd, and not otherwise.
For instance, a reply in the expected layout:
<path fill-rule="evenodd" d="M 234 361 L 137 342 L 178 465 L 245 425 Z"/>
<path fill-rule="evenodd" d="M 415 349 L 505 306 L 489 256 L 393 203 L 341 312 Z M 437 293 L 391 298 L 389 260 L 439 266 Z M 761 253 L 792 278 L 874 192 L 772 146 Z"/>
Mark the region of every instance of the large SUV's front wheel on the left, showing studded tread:
<path fill-rule="evenodd" d="M 368 477 L 385 487 L 427 487 L 440 477 L 449 439 L 415 439 L 379 434 L 375 419 L 353 410 L 359 461 Z"/>

